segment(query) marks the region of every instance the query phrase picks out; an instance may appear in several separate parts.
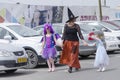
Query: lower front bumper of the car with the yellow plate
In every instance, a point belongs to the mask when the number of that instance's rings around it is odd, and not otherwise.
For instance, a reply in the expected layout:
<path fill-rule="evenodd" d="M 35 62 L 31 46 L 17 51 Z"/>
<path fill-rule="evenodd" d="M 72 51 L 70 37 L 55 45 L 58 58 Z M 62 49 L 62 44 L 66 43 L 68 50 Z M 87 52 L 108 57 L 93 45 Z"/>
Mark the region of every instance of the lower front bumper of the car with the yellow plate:
<path fill-rule="evenodd" d="M 26 67 L 27 62 L 16 63 L 16 60 L 1 60 L 0 61 L 0 71 L 11 70 L 11 69 L 20 69 Z"/>

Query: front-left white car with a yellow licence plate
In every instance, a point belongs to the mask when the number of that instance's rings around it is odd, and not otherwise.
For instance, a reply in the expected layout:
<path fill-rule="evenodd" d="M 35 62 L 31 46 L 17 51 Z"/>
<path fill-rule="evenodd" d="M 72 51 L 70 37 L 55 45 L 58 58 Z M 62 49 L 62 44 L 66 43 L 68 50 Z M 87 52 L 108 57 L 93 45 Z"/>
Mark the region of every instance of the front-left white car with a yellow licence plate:
<path fill-rule="evenodd" d="M 13 73 L 17 69 L 25 68 L 27 60 L 24 48 L 14 46 L 8 40 L 0 40 L 0 71 Z"/>

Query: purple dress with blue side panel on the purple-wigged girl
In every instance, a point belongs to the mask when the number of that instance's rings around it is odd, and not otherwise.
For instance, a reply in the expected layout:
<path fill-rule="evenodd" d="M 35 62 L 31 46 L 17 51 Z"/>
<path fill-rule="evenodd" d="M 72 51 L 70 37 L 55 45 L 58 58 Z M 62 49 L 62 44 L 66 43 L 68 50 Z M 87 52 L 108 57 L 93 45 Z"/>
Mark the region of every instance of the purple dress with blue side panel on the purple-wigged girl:
<path fill-rule="evenodd" d="M 44 39 L 45 46 L 43 48 L 42 57 L 44 59 L 55 58 L 57 51 L 55 48 L 55 41 L 53 35 L 51 35 L 50 37 L 45 36 Z"/>

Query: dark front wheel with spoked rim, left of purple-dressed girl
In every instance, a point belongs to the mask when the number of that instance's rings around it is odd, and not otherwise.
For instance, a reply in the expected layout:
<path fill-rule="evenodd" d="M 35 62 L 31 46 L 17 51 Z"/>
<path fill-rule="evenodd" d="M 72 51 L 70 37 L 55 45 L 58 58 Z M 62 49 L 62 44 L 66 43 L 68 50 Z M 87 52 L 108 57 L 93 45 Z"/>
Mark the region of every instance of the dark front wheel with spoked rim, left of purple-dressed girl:
<path fill-rule="evenodd" d="M 38 65 L 38 57 L 32 50 L 25 50 L 28 55 L 28 63 L 25 68 L 35 68 Z"/>

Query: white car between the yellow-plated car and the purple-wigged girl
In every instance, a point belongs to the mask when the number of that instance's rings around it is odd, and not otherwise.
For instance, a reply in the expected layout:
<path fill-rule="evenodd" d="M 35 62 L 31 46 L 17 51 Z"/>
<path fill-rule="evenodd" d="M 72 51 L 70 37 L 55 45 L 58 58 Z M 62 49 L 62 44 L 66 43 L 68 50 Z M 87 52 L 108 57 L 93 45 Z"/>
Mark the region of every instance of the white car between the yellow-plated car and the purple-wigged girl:
<path fill-rule="evenodd" d="M 3 40 L 5 36 L 11 37 L 11 44 L 25 49 L 28 54 L 27 68 L 34 68 L 38 63 L 46 62 L 40 54 L 42 36 L 35 30 L 18 23 L 0 23 L 0 39 Z"/>

